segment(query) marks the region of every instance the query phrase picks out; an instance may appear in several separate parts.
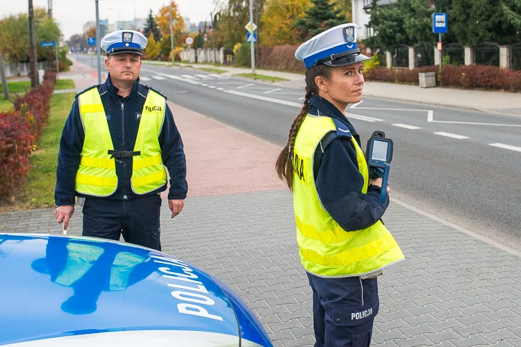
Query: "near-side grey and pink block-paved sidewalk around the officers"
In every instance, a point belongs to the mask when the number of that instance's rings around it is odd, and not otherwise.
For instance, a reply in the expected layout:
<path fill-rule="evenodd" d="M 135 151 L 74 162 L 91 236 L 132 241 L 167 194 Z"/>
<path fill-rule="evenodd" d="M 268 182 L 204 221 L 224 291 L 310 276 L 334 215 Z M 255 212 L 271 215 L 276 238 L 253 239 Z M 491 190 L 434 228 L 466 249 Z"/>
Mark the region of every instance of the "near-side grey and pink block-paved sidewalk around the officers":
<path fill-rule="evenodd" d="M 298 259 L 292 196 L 274 174 L 279 149 L 196 112 L 173 110 L 190 192 L 176 219 L 163 203 L 163 251 L 228 284 L 275 346 L 313 346 L 311 290 Z M 397 201 L 384 217 L 406 260 L 379 278 L 372 346 L 521 346 L 520 257 Z M 78 208 L 69 232 L 80 230 Z M 0 214 L 0 232 L 11 231 L 60 228 L 52 209 Z"/>

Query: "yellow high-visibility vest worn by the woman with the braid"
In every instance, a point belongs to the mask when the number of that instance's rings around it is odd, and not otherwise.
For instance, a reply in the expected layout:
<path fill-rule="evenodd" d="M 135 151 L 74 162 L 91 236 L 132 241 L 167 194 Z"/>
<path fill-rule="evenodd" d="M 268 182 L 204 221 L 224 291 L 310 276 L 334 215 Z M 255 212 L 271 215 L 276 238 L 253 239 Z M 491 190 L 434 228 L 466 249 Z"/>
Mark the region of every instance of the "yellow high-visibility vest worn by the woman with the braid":
<path fill-rule="evenodd" d="M 293 205 L 299 256 L 306 271 L 322 277 L 361 276 L 404 259 L 397 242 L 381 221 L 363 230 L 345 231 L 324 210 L 315 187 L 313 156 L 320 140 L 336 131 L 333 119 L 307 115 L 293 153 Z M 367 193 L 369 170 L 363 151 L 352 138 L 358 170 Z M 341 184 L 341 183 L 339 183 Z"/>

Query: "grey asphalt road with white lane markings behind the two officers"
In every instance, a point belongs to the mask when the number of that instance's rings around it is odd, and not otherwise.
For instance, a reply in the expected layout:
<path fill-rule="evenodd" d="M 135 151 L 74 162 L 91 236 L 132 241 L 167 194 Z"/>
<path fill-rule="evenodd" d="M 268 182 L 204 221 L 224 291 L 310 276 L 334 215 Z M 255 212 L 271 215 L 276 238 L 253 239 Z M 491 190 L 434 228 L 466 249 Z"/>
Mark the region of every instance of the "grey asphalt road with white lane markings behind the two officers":
<path fill-rule="evenodd" d="M 196 69 L 143 65 L 141 76 L 169 101 L 280 146 L 304 96 Z M 521 251 L 521 117 L 373 98 L 346 112 L 364 147 L 374 130 L 393 139 L 393 198 Z"/>

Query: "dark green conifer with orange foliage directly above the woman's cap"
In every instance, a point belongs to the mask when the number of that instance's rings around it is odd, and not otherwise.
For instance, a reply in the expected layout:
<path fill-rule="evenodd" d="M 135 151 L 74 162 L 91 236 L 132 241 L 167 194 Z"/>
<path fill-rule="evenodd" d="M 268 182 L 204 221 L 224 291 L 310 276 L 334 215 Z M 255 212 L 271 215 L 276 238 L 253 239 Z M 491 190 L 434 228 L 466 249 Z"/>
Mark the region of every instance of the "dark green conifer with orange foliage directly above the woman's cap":
<path fill-rule="evenodd" d="M 326 31 L 347 21 L 342 9 L 333 6 L 329 0 L 311 0 L 312 5 L 303 18 L 295 21 L 297 37 L 302 40 Z"/>

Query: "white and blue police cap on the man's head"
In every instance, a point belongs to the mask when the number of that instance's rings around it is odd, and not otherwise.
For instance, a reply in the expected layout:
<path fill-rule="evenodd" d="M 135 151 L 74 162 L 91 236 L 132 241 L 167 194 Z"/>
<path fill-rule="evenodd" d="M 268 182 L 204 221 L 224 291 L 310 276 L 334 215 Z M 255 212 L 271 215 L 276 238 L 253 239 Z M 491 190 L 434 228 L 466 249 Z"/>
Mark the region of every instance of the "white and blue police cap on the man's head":
<path fill-rule="evenodd" d="M 147 46 L 147 37 L 139 31 L 118 30 L 105 35 L 101 39 L 101 49 L 110 54 L 134 53 L 142 55 L 142 50 Z"/>

